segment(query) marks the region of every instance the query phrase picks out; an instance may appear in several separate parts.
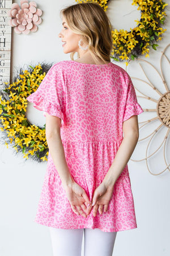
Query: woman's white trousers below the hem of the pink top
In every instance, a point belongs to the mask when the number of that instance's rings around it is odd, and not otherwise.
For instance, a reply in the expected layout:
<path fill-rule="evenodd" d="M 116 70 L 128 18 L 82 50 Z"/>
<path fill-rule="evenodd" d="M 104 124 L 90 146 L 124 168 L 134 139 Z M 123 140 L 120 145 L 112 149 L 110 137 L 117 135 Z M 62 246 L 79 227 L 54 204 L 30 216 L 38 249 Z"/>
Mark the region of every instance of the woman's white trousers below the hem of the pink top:
<path fill-rule="evenodd" d="M 50 228 L 53 256 L 81 256 L 84 233 L 84 256 L 112 256 L 117 232 L 100 229 Z"/>

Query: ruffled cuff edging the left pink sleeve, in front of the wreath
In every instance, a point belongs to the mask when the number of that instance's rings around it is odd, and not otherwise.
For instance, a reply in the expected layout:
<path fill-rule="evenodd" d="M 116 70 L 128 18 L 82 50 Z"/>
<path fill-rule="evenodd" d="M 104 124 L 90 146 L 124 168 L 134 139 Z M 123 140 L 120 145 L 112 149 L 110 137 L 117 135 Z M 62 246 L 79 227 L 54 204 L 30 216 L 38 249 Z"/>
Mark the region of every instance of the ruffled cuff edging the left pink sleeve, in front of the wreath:
<path fill-rule="evenodd" d="M 34 95 L 33 95 L 34 94 Z M 43 96 L 33 93 L 30 96 L 27 97 L 27 100 L 29 102 L 33 103 L 33 106 L 40 110 L 44 111 L 45 113 L 48 113 L 49 115 L 54 115 L 56 117 L 59 117 L 64 120 L 63 113 L 61 112 L 60 106 L 57 104 L 54 104 L 52 102 L 49 102 L 46 98 Z"/>

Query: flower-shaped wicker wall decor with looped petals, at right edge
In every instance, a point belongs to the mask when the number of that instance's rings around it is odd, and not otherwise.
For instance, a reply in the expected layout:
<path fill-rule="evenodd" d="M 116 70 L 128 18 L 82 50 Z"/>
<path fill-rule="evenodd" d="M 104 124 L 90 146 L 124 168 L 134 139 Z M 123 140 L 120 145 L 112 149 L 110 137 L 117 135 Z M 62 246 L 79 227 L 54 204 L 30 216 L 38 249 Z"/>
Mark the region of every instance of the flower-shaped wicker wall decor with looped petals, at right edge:
<path fill-rule="evenodd" d="M 148 143 L 147 143 L 147 147 L 146 147 L 146 154 L 145 154 L 145 158 L 139 159 L 139 160 L 135 160 L 130 158 L 130 160 L 134 161 L 134 162 L 141 162 L 142 160 L 146 160 L 146 166 L 147 166 L 147 170 L 150 172 L 150 174 L 152 175 L 160 175 L 163 174 L 163 172 L 165 172 L 166 170 L 170 171 L 170 163 L 168 163 L 168 152 L 166 150 L 166 148 L 168 148 L 167 142 L 169 139 L 169 131 L 170 131 L 170 89 L 168 88 L 168 86 L 170 87 L 170 84 L 168 84 L 168 80 L 165 80 L 165 76 L 164 76 L 164 72 L 163 72 L 163 61 L 166 61 L 166 63 L 169 65 L 167 67 L 166 65 L 166 69 L 167 71 L 169 71 L 169 67 L 170 67 L 170 57 L 168 57 L 167 53 L 170 51 L 170 44 L 168 44 L 167 47 L 165 47 L 164 51 L 162 52 L 162 55 L 160 57 L 160 72 L 154 67 L 154 65 L 152 65 L 151 63 L 149 63 L 146 60 L 143 59 L 139 59 L 139 65 L 147 79 L 147 81 L 143 80 L 143 79 L 139 79 L 138 77 L 133 77 L 131 76 L 132 80 L 136 80 L 139 83 L 140 82 L 144 82 L 145 84 L 147 84 L 148 86 L 150 86 L 150 88 L 152 88 L 154 90 L 155 93 L 158 94 L 159 99 L 156 100 L 154 97 L 148 97 L 145 93 L 141 92 L 141 90 L 139 90 L 137 88 L 137 86 L 135 87 L 135 90 L 137 91 L 137 97 L 138 98 L 143 98 L 152 102 L 156 103 L 156 108 L 154 109 L 145 109 L 145 112 L 155 112 L 156 117 L 153 117 L 151 119 L 147 119 L 146 121 L 142 121 L 139 122 L 139 132 L 140 130 L 146 126 L 148 123 L 152 123 L 156 120 L 160 121 L 159 122 L 159 126 L 156 127 L 156 129 L 154 131 L 152 131 L 152 133 L 150 133 L 149 135 L 147 135 L 145 138 L 142 138 L 138 140 L 138 143 L 145 141 L 145 139 L 149 139 Z M 154 85 L 153 82 L 150 81 L 150 79 L 148 78 L 148 76 L 146 75 L 145 70 L 142 67 L 141 63 L 147 63 L 148 65 L 150 65 L 151 68 L 153 68 L 155 70 L 155 72 L 157 73 L 157 75 L 160 77 L 160 80 L 162 80 L 162 84 L 163 84 L 163 90 L 164 93 L 160 92 L 160 90 Z M 126 68 L 127 69 L 127 68 Z M 142 104 L 141 104 L 142 106 Z M 162 139 L 162 143 L 160 143 L 160 145 L 158 146 L 158 148 L 156 148 L 156 150 L 154 152 L 152 152 L 152 154 L 148 154 L 148 148 L 150 146 L 150 144 L 152 143 L 156 133 L 158 133 L 158 131 L 164 127 L 166 129 L 166 133 L 164 138 Z M 165 164 L 165 168 L 163 168 L 163 170 L 159 170 L 159 172 L 157 174 L 155 174 L 154 172 L 151 171 L 150 167 L 149 167 L 149 160 L 151 160 L 151 156 L 154 156 L 156 152 L 158 152 L 159 150 L 161 150 L 161 148 L 163 147 L 163 158 L 164 158 L 164 164 Z M 161 159 L 160 159 L 161 160 Z M 155 170 L 153 170 L 155 171 Z"/>

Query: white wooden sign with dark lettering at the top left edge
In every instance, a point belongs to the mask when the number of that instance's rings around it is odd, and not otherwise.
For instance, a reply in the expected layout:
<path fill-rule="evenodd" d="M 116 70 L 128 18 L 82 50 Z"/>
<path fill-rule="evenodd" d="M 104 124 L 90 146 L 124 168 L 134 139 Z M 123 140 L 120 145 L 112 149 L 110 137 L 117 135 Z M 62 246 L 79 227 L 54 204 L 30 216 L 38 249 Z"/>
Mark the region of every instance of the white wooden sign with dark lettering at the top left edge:
<path fill-rule="evenodd" d="M 9 26 L 8 10 L 12 0 L 0 0 L 0 88 L 4 82 L 10 82 L 11 65 L 11 26 Z"/>

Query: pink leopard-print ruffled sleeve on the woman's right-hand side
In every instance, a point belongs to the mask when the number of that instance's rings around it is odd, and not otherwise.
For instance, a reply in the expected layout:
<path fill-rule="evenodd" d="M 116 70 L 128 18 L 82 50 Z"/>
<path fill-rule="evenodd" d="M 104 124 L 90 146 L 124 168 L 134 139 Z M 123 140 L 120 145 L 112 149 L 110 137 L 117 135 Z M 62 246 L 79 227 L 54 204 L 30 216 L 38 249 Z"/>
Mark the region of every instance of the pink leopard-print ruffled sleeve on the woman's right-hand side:
<path fill-rule="evenodd" d="M 123 122 L 129 119 L 132 115 L 139 115 L 143 112 L 143 109 L 137 102 L 137 95 L 133 83 L 128 76 L 128 91 L 126 94 L 126 104 L 124 110 Z"/>

